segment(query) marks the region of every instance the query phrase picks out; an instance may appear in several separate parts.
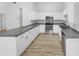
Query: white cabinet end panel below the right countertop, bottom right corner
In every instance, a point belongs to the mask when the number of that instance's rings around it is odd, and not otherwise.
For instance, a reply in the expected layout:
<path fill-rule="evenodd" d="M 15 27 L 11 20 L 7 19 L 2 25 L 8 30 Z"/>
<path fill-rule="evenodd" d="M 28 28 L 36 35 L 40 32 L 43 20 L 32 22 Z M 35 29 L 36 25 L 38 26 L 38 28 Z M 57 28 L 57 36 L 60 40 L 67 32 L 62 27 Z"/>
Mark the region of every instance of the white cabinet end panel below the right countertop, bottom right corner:
<path fill-rule="evenodd" d="M 66 39 L 66 56 L 79 56 L 79 38 Z"/>

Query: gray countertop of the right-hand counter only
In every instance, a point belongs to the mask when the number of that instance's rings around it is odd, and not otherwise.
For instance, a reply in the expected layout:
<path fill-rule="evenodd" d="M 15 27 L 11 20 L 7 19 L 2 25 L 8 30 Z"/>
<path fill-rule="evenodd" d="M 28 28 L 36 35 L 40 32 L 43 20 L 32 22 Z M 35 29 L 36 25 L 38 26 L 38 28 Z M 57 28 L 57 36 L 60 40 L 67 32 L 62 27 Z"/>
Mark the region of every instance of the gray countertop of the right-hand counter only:
<path fill-rule="evenodd" d="M 65 26 L 67 26 L 67 25 L 65 25 Z M 65 38 L 79 38 L 79 32 L 74 30 L 73 28 L 71 28 L 69 26 L 67 26 L 66 28 L 63 28 L 61 25 L 60 25 L 60 27 L 62 29 L 62 32 L 63 32 Z"/>

